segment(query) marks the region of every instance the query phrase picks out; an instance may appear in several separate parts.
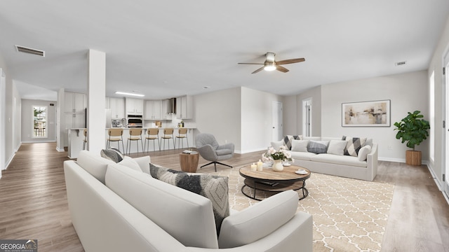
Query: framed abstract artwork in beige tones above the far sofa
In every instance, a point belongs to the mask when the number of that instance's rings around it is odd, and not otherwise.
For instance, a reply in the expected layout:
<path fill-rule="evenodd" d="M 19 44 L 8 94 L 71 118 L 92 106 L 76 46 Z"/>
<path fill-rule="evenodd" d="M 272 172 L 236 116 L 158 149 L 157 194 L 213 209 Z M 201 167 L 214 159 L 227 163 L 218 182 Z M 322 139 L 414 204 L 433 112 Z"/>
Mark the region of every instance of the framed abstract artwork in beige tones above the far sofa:
<path fill-rule="evenodd" d="M 390 100 L 342 103 L 342 127 L 390 127 Z"/>

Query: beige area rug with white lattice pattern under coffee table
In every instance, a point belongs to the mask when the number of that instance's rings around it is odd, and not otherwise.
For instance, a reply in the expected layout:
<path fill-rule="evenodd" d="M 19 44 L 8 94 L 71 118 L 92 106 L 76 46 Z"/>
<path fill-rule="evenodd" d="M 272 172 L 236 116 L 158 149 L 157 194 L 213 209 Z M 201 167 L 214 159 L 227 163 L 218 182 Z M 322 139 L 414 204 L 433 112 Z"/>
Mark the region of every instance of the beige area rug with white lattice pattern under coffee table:
<path fill-rule="evenodd" d="M 217 175 L 229 176 L 232 209 L 257 203 L 241 193 L 244 179 L 239 168 L 220 167 Z M 300 200 L 297 209 L 314 218 L 314 252 L 380 251 L 394 185 L 314 173 L 306 188 L 309 196 Z"/>

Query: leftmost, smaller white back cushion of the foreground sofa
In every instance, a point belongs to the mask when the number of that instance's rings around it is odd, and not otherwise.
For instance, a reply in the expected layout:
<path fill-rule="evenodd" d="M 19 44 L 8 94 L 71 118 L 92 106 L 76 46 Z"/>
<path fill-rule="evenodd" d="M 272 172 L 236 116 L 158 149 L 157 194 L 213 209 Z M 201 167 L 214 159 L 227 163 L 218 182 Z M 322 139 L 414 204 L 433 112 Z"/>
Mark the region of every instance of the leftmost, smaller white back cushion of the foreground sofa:
<path fill-rule="evenodd" d="M 107 165 L 115 164 L 112 160 L 102 158 L 91 151 L 80 151 L 76 163 L 101 183 L 105 183 Z"/>

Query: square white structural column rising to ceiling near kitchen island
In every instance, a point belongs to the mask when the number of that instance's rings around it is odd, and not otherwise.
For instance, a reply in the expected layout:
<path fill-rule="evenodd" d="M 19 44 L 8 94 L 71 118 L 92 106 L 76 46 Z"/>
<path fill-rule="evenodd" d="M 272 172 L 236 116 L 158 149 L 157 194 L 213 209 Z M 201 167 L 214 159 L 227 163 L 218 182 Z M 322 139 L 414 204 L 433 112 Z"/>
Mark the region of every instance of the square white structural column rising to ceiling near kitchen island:
<path fill-rule="evenodd" d="M 88 52 L 87 130 L 88 150 L 100 154 L 105 148 L 106 54 Z"/>

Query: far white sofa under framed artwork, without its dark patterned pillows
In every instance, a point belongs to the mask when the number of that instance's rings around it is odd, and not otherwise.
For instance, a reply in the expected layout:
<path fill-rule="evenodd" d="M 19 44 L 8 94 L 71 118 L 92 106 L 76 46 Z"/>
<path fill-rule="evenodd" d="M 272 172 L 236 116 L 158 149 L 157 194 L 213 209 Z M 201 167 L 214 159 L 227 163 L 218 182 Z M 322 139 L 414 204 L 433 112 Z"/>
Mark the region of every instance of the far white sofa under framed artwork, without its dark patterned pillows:
<path fill-rule="evenodd" d="M 377 144 L 373 143 L 373 139 L 366 139 L 363 146 L 367 147 L 363 151 L 359 151 L 358 155 L 351 156 L 343 155 L 342 151 L 344 150 L 335 147 L 342 141 L 341 137 L 298 136 L 300 139 L 292 139 L 292 136 L 286 137 L 290 138 L 291 146 L 288 146 L 288 148 L 291 147 L 290 153 L 294 159 L 293 165 L 307 168 L 311 172 L 365 181 L 373 181 L 377 175 Z M 328 150 L 326 153 L 311 153 L 307 151 L 307 146 L 305 146 L 307 141 L 309 144 L 311 141 L 327 142 Z M 330 147 L 331 143 L 333 147 Z M 281 145 L 286 145 L 286 141 L 272 142 L 272 147 L 276 149 L 279 149 Z M 330 151 L 330 148 L 333 148 L 333 150 Z"/>

